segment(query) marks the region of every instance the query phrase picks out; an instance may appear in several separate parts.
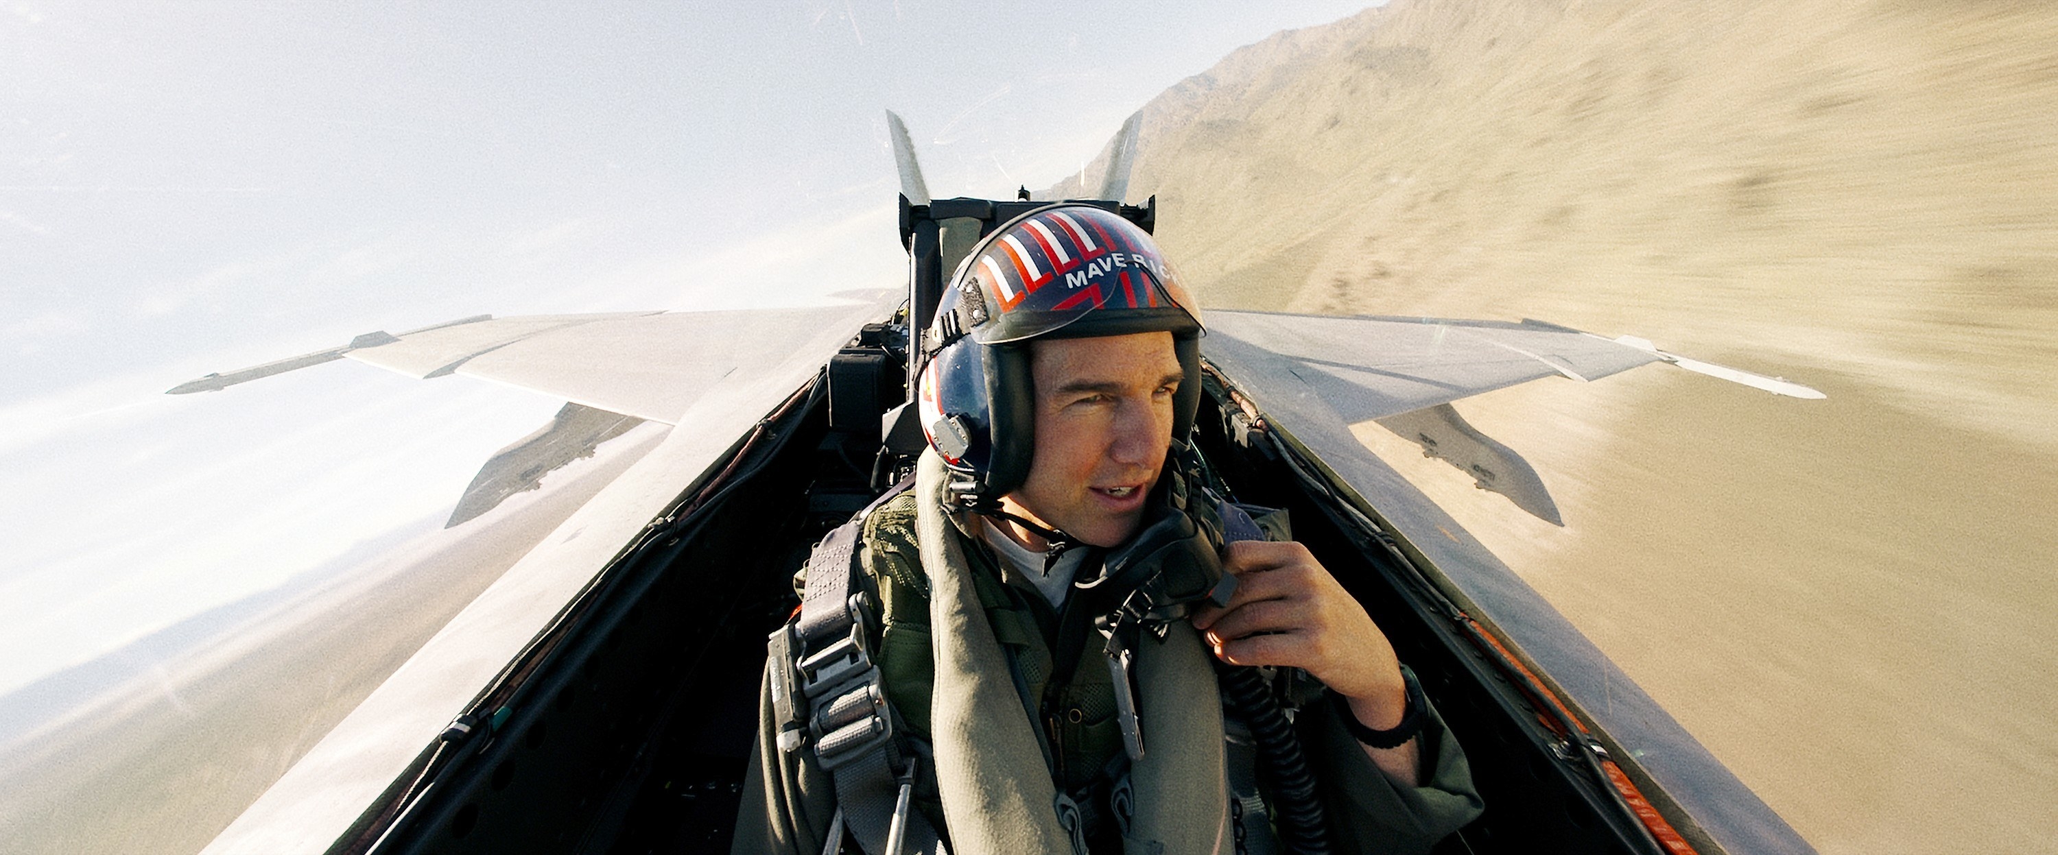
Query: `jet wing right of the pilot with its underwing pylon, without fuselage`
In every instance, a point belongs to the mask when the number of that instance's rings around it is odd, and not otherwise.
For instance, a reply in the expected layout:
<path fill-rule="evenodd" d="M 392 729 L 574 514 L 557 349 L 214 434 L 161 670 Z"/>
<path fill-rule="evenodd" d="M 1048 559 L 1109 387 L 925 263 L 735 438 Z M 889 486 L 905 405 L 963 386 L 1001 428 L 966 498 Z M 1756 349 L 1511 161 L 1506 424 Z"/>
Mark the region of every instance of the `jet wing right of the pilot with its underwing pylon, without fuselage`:
<path fill-rule="evenodd" d="M 1599 380 L 1667 362 L 1774 395 L 1819 399 L 1786 378 L 1688 360 L 1638 337 L 1605 339 L 1543 321 L 1447 321 L 1208 312 L 1202 351 L 1243 388 L 1344 423 L 1379 421 L 1482 489 L 1562 526 L 1543 479 L 1513 448 L 1480 434 L 1451 401 L 1548 376 Z"/>

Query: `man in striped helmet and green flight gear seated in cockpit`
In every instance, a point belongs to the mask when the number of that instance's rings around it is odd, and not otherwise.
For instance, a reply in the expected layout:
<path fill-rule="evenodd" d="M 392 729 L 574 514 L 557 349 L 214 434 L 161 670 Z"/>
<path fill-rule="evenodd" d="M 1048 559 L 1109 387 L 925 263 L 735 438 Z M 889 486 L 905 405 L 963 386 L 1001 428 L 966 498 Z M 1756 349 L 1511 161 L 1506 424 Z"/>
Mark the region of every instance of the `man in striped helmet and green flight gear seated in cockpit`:
<path fill-rule="evenodd" d="M 735 853 L 1424 853 L 1480 814 L 1364 608 L 1253 536 L 1284 514 L 1208 489 L 1200 335 L 1101 208 L 971 249 L 922 337 L 912 489 L 815 549 L 772 637 Z M 1165 532 L 1214 547 L 1179 563 Z M 1214 555 L 1212 600 L 1136 594 Z"/>

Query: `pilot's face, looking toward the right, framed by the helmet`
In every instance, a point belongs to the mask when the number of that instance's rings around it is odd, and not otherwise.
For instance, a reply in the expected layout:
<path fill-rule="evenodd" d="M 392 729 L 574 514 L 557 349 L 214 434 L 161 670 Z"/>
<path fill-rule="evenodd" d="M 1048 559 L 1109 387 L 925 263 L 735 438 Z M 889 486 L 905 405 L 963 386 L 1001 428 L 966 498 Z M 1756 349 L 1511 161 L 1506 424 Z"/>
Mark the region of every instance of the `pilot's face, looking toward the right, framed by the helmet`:
<path fill-rule="evenodd" d="M 1035 458 L 1004 501 L 1095 547 L 1128 541 L 1171 446 L 1171 333 L 1039 339 L 1029 366 Z"/>

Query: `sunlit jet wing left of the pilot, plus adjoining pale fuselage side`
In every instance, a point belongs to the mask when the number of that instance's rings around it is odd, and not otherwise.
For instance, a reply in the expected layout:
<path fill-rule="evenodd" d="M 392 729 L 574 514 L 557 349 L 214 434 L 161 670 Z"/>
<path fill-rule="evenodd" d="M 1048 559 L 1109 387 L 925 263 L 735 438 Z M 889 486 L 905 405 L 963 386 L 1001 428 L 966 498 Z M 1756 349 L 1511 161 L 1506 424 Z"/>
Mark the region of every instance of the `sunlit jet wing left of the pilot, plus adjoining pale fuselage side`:
<path fill-rule="evenodd" d="M 327 849 L 366 804 L 405 777 L 424 740 L 463 713 L 480 686 L 492 684 L 622 545 L 679 497 L 683 485 L 698 483 L 766 413 L 821 372 L 864 323 L 885 321 L 897 302 L 477 319 L 389 335 L 393 341 L 360 335 L 356 347 L 309 356 L 325 360 L 296 358 L 303 364 L 352 358 L 410 376 L 469 374 L 549 393 L 584 405 L 560 413 L 556 423 L 576 425 L 589 440 L 619 428 L 595 421 L 593 409 L 665 421 L 673 430 L 449 619 L 206 851 Z M 280 360 L 286 362 L 294 360 Z M 247 372 L 202 380 L 230 384 L 278 370 Z M 517 446 L 539 444 L 547 432 Z"/>

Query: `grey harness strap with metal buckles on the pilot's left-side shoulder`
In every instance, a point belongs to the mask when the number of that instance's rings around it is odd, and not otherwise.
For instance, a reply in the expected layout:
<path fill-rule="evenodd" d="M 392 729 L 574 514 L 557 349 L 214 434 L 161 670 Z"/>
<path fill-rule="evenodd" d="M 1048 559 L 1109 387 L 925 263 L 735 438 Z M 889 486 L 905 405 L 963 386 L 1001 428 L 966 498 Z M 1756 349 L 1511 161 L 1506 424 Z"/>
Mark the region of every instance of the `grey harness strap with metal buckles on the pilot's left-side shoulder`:
<path fill-rule="evenodd" d="M 895 715 L 873 662 L 871 606 L 854 590 L 862 575 L 856 555 L 864 518 L 910 487 L 914 479 L 901 481 L 815 545 L 801 617 L 772 633 L 768 645 L 778 670 L 772 680 L 778 744 L 788 752 L 813 744 L 815 760 L 836 779 L 842 830 L 871 855 L 947 855 L 936 828 L 903 797 L 916 775 L 914 756 L 903 756 L 893 738 Z M 831 851 L 840 847 L 838 839 L 827 843 Z"/>

